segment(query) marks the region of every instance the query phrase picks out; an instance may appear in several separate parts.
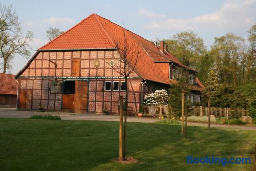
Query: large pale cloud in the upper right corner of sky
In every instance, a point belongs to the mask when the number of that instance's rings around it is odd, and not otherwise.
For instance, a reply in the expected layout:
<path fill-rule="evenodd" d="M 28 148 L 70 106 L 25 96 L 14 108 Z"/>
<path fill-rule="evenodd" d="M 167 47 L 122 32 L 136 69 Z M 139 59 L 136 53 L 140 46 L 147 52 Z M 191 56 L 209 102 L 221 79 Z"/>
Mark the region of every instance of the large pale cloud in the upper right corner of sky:
<path fill-rule="evenodd" d="M 188 19 L 166 18 L 163 14 L 156 14 L 147 10 L 139 10 L 138 14 L 150 19 L 158 19 L 145 25 L 150 29 L 179 29 L 198 30 L 215 29 L 220 31 L 242 30 L 252 26 L 256 21 L 256 0 L 227 1 L 219 10 Z M 157 17 L 162 16 L 162 17 Z"/>

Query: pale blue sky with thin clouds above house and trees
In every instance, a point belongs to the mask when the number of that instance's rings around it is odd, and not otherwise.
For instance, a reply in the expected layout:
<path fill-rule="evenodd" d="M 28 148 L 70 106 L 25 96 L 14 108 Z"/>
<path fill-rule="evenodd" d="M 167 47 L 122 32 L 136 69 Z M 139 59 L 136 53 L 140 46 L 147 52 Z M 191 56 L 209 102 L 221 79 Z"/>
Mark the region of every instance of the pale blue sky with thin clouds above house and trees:
<path fill-rule="evenodd" d="M 193 1 L 14 1 L 12 5 L 23 27 L 23 33 L 33 31 L 31 56 L 48 42 L 49 27 L 66 31 L 92 13 L 148 39 L 162 40 L 174 34 L 192 30 L 202 37 L 209 48 L 214 37 L 235 33 L 244 38 L 256 23 L 256 0 L 193 0 Z M 16 74 L 27 59 L 15 56 L 10 73 Z M 1 61 L 2 62 L 2 61 Z"/>

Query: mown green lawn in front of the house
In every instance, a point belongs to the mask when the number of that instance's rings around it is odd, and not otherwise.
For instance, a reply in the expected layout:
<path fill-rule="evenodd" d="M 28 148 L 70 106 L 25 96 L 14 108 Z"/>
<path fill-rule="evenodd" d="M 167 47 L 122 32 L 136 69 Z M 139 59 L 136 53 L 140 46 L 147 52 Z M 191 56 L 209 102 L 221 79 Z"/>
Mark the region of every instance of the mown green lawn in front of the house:
<path fill-rule="evenodd" d="M 251 170 L 255 131 L 128 123 L 127 154 L 119 164 L 118 122 L 0 119 L 0 170 Z M 251 157 L 252 164 L 187 164 L 194 157 Z"/>

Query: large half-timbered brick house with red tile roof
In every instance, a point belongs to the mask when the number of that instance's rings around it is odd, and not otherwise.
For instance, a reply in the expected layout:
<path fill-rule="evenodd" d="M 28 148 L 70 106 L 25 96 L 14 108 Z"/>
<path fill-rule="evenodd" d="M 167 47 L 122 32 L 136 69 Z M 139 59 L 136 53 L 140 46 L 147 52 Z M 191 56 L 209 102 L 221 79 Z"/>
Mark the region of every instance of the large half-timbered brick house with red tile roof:
<path fill-rule="evenodd" d="M 136 44 L 143 54 L 125 84 L 115 66 L 121 66 L 117 43 Z M 132 65 L 132 64 L 131 64 Z M 16 75 L 18 108 L 118 112 L 118 99 L 129 90 L 129 106 L 137 111 L 145 93 L 168 89 L 175 82 L 176 66 L 184 66 L 167 44 L 153 44 L 139 35 L 92 14 L 39 48 Z M 188 67 L 186 67 L 188 68 Z M 198 100 L 203 85 L 191 74 L 191 89 Z M 193 96 L 194 98 L 194 96 Z"/>

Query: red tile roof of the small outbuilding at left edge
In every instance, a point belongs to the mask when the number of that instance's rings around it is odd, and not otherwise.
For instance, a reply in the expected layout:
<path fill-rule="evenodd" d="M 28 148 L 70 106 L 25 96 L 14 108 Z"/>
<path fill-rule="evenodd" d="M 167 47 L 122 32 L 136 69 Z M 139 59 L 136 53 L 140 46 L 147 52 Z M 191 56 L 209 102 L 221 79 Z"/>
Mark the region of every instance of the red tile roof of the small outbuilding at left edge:
<path fill-rule="evenodd" d="M 0 94 L 17 94 L 15 75 L 0 73 Z"/>

